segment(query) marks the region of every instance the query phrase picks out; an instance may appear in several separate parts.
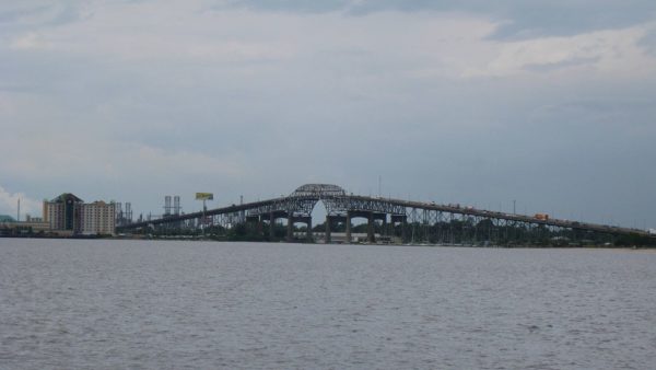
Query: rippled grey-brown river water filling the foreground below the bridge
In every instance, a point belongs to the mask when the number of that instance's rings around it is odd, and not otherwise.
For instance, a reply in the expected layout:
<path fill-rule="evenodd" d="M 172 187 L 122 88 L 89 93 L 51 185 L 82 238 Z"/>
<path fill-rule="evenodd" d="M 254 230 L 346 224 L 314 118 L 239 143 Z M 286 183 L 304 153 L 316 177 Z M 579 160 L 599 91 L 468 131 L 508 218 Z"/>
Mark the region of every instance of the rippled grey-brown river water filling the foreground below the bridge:
<path fill-rule="evenodd" d="M 0 369 L 654 369 L 656 252 L 0 239 Z"/>

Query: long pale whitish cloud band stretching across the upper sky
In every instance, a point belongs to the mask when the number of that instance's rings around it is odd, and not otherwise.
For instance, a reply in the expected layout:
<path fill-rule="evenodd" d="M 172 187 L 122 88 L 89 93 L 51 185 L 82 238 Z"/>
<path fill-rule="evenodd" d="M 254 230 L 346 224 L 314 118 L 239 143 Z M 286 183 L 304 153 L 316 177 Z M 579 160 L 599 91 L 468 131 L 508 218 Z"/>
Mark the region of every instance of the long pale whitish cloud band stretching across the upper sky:
<path fill-rule="evenodd" d="M 344 2 L 339 7 L 347 3 L 350 7 L 368 4 Z M 247 7 L 249 3 L 238 4 Z M 279 3 L 284 9 L 294 9 L 293 4 Z M 470 78 L 581 68 L 591 72 L 614 72 L 626 69 L 626 62 L 633 65 L 630 69 L 633 73 L 641 73 L 651 70 L 649 65 L 653 65 L 641 55 L 644 48 L 636 47 L 639 41 L 646 39 L 648 26 L 500 41 L 490 37 L 505 27 L 505 21 L 467 13 L 426 16 L 394 2 L 383 8 L 408 12 L 375 11 L 353 19 L 335 12 L 312 12 L 309 15 L 253 13 L 234 10 L 234 5 L 199 13 L 197 2 L 173 2 L 165 9 L 148 1 L 103 3 L 89 10 L 93 16 L 47 34 L 16 34 L 10 45 L 21 50 L 47 51 L 46 57 L 75 56 L 79 58 L 75 62 L 80 63 L 125 65 L 125 71 L 136 70 L 140 74 L 136 76 L 138 79 L 149 74 L 154 77 L 153 72 L 168 69 L 171 76 L 165 81 L 173 81 L 190 68 L 214 78 L 245 81 L 276 74 L 285 78 L 281 73 L 288 71 L 291 74 L 307 72 L 305 79 L 311 80 L 316 70 L 358 78 L 376 78 L 382 73 Z M 296 5 L 302 8 L 301 3 Z M 128 16 L 126 9 L 129 9 Z M 117 28 L 118 23 L 124 26 Z M 162 24 L 167 26 L 163 28 Z M 254 31 L 262 24 L 268 25 L 267 31 Z M 305 32 L 298 33 L 298 30 Z M 332 31 L 326 33 L 324 30 Z M 16 61 L 17 68 L 23 62 Z M 11 57 L 8 65 L 12 66 Z M 171 70 L 173 65 L 178 69 Z M 153 72 L 144 70 L 145 66 Z M 186 73 L 175 82 L 187 82 L 185 88 L 202 84 L 198 74 Z M 68 76 L 62 77 L 71 81 Z M 185 81 L 184 78 L 189 77 L 191 80 Z M 156 78 L 161 80 L 161 76 Z"/>

